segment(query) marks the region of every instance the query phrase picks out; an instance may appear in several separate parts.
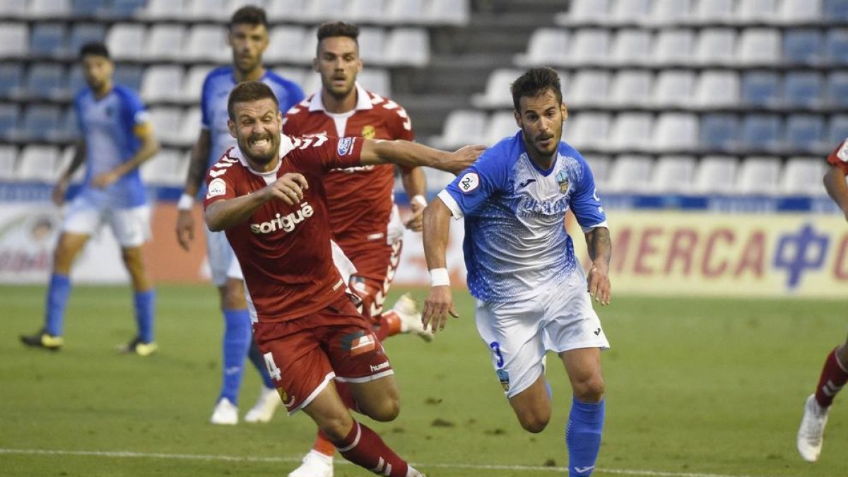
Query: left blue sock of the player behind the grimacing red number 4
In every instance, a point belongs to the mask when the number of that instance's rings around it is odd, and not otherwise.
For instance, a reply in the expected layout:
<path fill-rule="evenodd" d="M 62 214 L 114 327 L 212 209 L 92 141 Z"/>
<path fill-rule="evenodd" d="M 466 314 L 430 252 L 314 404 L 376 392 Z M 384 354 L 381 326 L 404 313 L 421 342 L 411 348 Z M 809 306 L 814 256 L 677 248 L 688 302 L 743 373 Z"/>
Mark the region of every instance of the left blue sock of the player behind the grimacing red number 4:
<path fill-rule="evenodd" d="M 244 374 L 244 357 L 248 356 L 252 340 L 248 310 L 224 310 L 224 381 L 219 401 L 226 397 L 233 404 L 237 403 Z"/>

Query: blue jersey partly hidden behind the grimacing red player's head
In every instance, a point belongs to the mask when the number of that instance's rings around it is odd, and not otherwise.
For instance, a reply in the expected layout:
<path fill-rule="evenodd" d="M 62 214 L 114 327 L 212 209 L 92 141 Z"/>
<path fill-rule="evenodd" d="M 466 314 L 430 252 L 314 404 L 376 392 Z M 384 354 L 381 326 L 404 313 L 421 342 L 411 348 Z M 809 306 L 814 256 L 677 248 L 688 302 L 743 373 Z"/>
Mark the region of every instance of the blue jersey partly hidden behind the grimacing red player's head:
<path fill-rule="evenodd" d="M 304 90 L 297 83 L 284 79 L 271 70 L 265 70 L 265 75 L 259 81 L 271 87 L 280 103 L 281 111 L 287 111 L 304 99 Z M 230 136 L 230 129 L 226 126 L 226 121 L 230 118 L 226 112 L 226 101 L 236 84 L 235 69 L 232 66 L 221 66 L 209 71 L 204 81 L 200 111 L 202 125 L 204 129 L 209 130 L 212 139 L 207 169 L 218 162 L 226 149 L 236 145 L 235 137 Z"/>

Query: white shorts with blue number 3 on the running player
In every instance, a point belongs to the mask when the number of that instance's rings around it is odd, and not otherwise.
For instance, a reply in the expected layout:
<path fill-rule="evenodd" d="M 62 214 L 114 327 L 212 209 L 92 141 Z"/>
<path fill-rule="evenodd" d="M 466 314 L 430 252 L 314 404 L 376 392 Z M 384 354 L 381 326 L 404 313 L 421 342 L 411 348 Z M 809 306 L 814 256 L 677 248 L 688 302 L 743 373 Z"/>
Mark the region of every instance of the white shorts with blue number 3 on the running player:
<path fill-rule="evenodd" d="M 610 347 L 585 280 L 575 282 L 550 287 L 530 300 L 477 300 L 477 332 L 491 351 L 507 398 L 526 390 L 544 373 L 548 351 Z"/>

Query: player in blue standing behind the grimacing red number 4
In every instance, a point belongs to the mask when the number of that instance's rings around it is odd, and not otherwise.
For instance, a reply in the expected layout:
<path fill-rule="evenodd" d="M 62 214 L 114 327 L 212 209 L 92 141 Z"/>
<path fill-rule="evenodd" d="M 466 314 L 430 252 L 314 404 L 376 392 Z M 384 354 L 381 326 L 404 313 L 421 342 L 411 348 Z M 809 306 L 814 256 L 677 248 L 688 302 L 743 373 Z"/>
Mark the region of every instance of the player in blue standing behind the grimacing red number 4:
<path fill-rule="evenodd" d="M 192 149 L 192 164 L 177 205 L 176 239 L 185 250 L 189 249 L 194 239 L 192 206 L 203 185 L 206 171 L 220 159 L 226 149 L 236 145 L 236 139 L 230 135 L 226 125 L 229 118 L 226 102 L 232 89 L 243 81 L 262 81 L 271 87 L 283 111 L 304 98 L 304 92 L 297 84 L 277 76 L 262 65 L 262 53 L 268 48 L 269 42 L 265 10 L 254 6 L 239 8 L 230 19 L 227 41 L 232 48 L 232 65 L 210 71 L 204 81 L 200 103 L 203 123 L 198 141 Z M 206 230 L 206 244 L 212 281 L 218 288 L 224 313 L 223 382 L 210 422 L 238 423 L 238 391 L 242 385 L 245 356 L 248 355 L 262 375 L 263 389 L 256 405 L 248 411 L 244 420 L 268 422 L 280 405 L 280 396 L 254 344 L 247 302 L 244 299 L 241 267 L 224 233 Z"/>

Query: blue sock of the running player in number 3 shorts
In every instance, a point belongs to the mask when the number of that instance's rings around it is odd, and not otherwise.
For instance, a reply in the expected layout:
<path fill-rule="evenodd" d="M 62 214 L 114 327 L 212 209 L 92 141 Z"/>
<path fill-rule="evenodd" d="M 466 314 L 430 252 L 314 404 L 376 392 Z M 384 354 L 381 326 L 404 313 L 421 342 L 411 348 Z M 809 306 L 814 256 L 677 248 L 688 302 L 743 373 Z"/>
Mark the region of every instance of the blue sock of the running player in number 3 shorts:
<path fill-rule="evenodd" d="M 589 403 L 572 399 L 572 412 L 566 425 L 569 477 L 586 477 L 594 470 L 604 427 L 604 400 Z"/>

